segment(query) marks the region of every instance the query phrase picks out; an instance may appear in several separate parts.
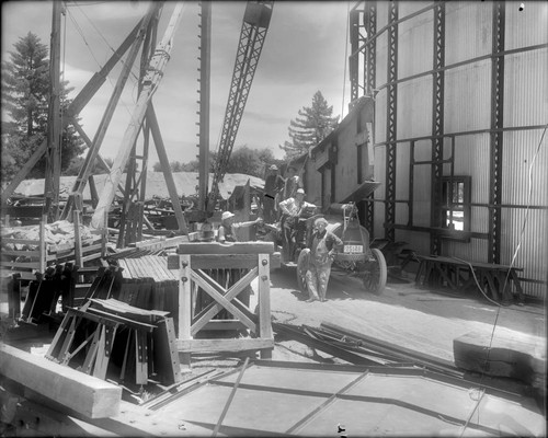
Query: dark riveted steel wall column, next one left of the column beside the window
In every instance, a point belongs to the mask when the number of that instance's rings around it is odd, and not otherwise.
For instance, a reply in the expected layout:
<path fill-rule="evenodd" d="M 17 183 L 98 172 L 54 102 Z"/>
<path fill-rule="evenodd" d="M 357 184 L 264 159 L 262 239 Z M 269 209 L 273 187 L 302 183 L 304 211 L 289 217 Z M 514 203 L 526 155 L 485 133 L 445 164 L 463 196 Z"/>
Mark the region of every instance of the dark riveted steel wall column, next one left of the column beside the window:
<path fill-rule="evenodd" d="M 398 85 L 398 2 L 393 1 L 388 7 L 388 68 L 387 68 L 387 125 L 386 125 L 386 206 L 385 206 L 385 239 L 395 240 L 395 229 L 391 224 L 396 221 L 396 137 L 397 137 L 397 104 Z"/>

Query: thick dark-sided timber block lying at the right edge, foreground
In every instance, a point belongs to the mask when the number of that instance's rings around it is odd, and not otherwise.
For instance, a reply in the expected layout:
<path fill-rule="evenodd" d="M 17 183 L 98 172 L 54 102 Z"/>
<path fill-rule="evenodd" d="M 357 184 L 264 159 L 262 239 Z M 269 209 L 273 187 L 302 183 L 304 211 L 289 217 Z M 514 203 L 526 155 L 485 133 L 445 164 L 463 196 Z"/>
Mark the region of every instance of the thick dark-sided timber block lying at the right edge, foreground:
<path fill-rule="evenodd" d="M 488 376 L 527 383 L 546 379 L 546 339 L 521 332 L 470 332 L 453 341 L 455 365 Z M 544 377 L 543 377 L 544 376 Z"/>

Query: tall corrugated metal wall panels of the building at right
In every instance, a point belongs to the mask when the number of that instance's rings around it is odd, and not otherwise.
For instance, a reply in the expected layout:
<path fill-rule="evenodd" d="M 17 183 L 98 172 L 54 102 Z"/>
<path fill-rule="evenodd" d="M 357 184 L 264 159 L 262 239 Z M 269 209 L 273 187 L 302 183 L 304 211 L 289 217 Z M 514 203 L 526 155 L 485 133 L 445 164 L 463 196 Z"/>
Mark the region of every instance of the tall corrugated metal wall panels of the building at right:
<path fill-rule="evenodd" d="M 431 250 L 433 165 L 410 165 L 410 160 L 433 160 L 433 104 L 437 99 L 443 103 L 443 159 L 453 159 L 453 168 L 450 162 L 443 165 L 443 175 L 453 172 L 471 177 L 472 235 L 467 242 L 443 239 L 441 253 L 476 262 L 514 263 L 525 268 L 521 275 L 525 292 L 546 297 L 548 136 L 539 142 L 548 122 L 548 3 L 525 2 L 520 12 L 520 2 L 443 2 L 441 96 L 433 94 L 441 2 L 397 2 L 397 78 L 391 83 L 391 2 L 365 4 L 376 7 L 376 33 L 365 46 L 374 41 L 375 178 L 384 186 L 390 184 L 387 124 L 397 127 L 396 177 L 391 181 L 396 239 L 420 253 Z M 501 23 L 500 32 L 493 33 Z M 389 120 L 388 90 L 395 84 L 397 116 Z M 495 107 L 500 113 L 493 113 Z M 534 181 L 530 197 L 529 174 Z M 383 237 L 389 192 L 383 187 L 375 193 L 375 237 Z"/>

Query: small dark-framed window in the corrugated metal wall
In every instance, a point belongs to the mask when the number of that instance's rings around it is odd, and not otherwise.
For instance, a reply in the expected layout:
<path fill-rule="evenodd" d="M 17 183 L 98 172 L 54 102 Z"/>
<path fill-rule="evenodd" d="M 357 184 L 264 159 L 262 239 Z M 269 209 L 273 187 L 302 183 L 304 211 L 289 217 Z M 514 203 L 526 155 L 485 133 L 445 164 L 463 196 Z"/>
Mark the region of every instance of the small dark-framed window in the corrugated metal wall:
<path fill-rule="evenodd" d="M 442 227 L 470 231 L 470 176 L 442 177 Z"/>

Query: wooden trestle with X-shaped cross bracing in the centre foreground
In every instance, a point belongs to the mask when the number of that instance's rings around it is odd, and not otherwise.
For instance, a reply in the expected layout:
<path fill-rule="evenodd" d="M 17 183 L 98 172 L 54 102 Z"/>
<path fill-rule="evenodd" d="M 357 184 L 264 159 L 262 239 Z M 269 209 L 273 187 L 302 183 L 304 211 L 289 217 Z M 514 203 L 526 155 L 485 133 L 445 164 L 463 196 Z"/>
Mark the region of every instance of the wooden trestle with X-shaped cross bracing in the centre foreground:
<path fill-rule="evenodd" d="M 178 349 L 181 362 L 190 366 L 193 353 L 260 350 L 262 358 L 272 357 L 274 337 L 270 310 L 270 268 L 274 245 L 271 242 L 247 243 L 184 243 L 178 255 L 168 257 L 168 267 L 179 269 L 179 326 Z M 208 269 L 243 269 L 244 275 L 228 286 L 216 281 Z M 258 311 L 253 313 L 238 299 L 258 278 Z M 213 302 L 194 311 L 196 289 L 202 288 Z M 250 331 L 253 337 L 195 338 L 195 335 L 212 325 L 225 321 L 213 321 L 226 309 Z"/>

